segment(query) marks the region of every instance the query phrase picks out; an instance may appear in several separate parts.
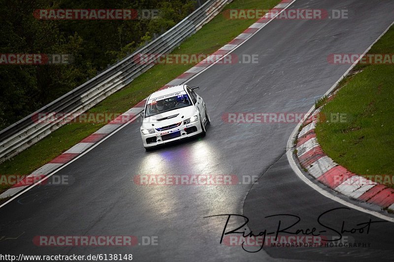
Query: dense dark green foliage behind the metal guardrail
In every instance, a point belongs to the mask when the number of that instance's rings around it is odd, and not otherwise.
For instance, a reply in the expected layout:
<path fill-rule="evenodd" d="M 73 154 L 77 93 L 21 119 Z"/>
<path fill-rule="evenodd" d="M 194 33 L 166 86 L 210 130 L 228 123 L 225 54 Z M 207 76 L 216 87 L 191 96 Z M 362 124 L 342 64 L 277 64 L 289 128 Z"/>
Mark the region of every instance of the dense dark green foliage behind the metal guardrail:
<path fill-rule="evenodd" d="M 38 20 L 35 9 L 159 9 L 157 19 Z M 194 0 L 0 0 L 0 54 L 71 54 L 68 65 L 0 65 L 0 130 L 174 26 Z"/>

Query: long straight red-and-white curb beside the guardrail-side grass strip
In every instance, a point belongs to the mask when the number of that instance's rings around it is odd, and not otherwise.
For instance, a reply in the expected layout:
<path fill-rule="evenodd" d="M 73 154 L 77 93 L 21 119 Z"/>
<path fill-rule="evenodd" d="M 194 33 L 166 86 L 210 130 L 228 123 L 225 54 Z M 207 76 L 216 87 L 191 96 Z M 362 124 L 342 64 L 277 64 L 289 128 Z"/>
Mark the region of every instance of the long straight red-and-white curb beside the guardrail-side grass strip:
<path fill-rule="evenodd" d="M 263 29 L 263 27 L 266 24 L 268 24 L 270 21 L 275 19 L 276 16 L 278 16 L 283 10 L 285 10 L 289 5 L 291 5 L 295 1 L 296 0 L 282 0 L 278 5 L 276 5 L 272 9 L 274 11 L 273 13 L 269 12 L 265 14 L 256 23 L 251 25 L 248 29 L 244 30 L 241 34 L 239 34 L 237 37 L 231 40 L 227 45 L 223 46 L 218 51 L 208 56 L 207 58 L 205 58 L 204 60 L 196 64 L 194 67 L 190 68 L 189 70 L 187 70 L 186 72 L 184 72 L 183 74 L 172 80 L 171 82 L 167 83 L 164 87 L 160 88 L 160 90 L 167 87 L 181 85 L 191 80 L 192 78 L 200 74 L 202 71 L 206 70 L 208 67 L 217 63 L 219 60 L 224 58 L 226 54 L 230 54 L 243 42 L 245 42 L 254 34 L 256 34 L 260 29 Z M 137 105 L 135 105 L 133 108 L 131 108 L 124 114 L 118 116 L 116 119 L 112 120 L 107 125 L 101 127 L 98 131 L 88 136 L 87 138 L 83 139 L 75 146 L 72 146 L 70 149 L 68 149 L 58 157 L 54 158 L 49 163 L 35 170 L 32 174 L 28 175 L 27 177 L 34 176 L 34 178 L 37 178 L 37 180 L 26 179 L 26 181 L 20 181 L 20 183 L 15 184 L 12 188 L 0 194 L 0 199 L 12 197 L 17 193 L 21 192 L 22 190 L 24 190 L 25 188 L 30 187 L 33 184 L 34 185 L 38 184 L 39 180 L 45 178 L 46 175 L 49 175 L 50 173 L 56 171 L 66 163 L 73 160 L 75 157 L 81 155 L 87 149 L 91 148 L 93 145 L 98 144 L 102 139 L 107 137 L 109 134 L 115 132 L 119 127 L 127 123 L 130 123 L 135 116 L 138 116 L 138 114 L 143 111 L 145 107 L 145 103 L 146 103 L 146 99 L 140 101 Z"/>

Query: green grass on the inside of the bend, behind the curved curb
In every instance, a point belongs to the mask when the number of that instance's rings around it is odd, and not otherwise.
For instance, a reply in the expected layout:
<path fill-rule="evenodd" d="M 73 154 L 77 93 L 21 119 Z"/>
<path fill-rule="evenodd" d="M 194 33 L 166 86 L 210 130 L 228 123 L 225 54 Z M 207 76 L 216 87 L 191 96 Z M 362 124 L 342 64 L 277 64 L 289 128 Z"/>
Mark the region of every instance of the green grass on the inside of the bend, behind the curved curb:
<path fill-rule="evenodd" d="M 394 28 L 370 50 L 394 53 Z M 394 65 L 357 65 L 322 109 L 326 121 L 316 126 L 323 150 L 358 175 L 394 175 Z M 331 114 L 344 114 L 338 122 Z M 394 188 L 393 185 L 387 184 Z"/>

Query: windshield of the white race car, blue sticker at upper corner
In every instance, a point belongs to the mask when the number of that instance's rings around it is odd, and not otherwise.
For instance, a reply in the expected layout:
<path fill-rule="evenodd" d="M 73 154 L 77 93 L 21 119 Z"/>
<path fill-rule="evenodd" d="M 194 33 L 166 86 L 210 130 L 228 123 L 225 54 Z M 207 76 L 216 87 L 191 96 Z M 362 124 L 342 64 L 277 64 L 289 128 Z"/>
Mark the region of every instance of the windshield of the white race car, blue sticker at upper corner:
<path fill-rule="evenodd" d="M 190 105 L 192 105 L 192 103 L 190 102 L 189 96 L 187 94 L 172 96 L 162 100 L 154 101 L 146 105 L 144 117 L 162 114 L 164 112 L 188 107 Z"/>

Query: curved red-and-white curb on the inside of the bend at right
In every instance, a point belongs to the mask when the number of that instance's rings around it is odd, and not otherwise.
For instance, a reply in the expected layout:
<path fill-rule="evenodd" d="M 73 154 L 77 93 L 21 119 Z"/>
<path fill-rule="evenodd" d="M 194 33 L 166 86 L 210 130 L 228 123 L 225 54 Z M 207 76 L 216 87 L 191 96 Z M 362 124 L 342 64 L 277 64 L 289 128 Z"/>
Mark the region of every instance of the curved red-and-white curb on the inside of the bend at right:
<path fill-rule="evenodd" d="M 394 189 L 356 175 L 335 163 L 324 152 L 316 139 L 315 127 L 319 120 L 317 109 L 297 135 L 296 155 L 302 168 L 336 192 L 352 199 L 394 210 Z"/>

